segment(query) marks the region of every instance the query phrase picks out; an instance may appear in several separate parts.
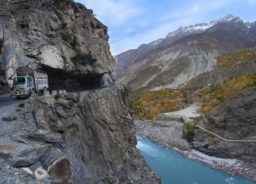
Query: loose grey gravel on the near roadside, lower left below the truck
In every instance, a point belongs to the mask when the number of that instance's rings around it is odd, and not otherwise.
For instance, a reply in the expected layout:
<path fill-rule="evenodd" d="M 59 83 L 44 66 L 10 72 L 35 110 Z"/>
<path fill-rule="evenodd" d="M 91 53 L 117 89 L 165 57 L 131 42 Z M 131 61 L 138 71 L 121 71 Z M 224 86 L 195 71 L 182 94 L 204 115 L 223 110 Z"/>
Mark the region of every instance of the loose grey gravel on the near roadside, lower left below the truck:
<path fill-rule="evenodd" d="M 0 108 L 0 145 L 3 147 L 17 146 L 18 149 L 26 149 L 38 143 L 33 140 L 26 139 L 23 135 L 33 132 L 33 124 L 24 120 L 24 112 L 22 107 L 18 107 L 19 103 L 10 104 Z M 16 120 L 5 121 L 3 117 L 17 117 Z M 4 118 L 5 119 L 5 118 Z M 15 119 L 15 118 L 14 118 Z M 13 141 L 12 136 L 24 139 L 26 143 Z M 3 146 L 4 145 L 4 146 Z M 0 184 L 46 184 L 51 183 L 50 180 L 36 180 L 33 175 L 25 173 L 20 168 L 12 167 L 7 155 L 0 154 Z"/>

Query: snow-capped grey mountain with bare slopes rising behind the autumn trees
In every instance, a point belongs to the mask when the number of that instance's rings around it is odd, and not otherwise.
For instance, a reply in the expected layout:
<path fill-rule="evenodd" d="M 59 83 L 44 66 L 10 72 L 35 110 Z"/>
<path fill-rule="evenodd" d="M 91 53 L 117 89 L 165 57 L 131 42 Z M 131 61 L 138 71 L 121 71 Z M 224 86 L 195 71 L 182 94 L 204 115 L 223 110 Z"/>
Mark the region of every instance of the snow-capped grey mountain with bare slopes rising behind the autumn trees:
<path fill-rule="evenodd" d="M 230 14 L 208 24 L 181 27 L 163 39 L 131 50 L 130 54 L 115 56 L 117 83 L 133 90 L 175 88 L 211 71 L 218 55 L 253 48 L 255 33 L 255 22 L 245 23 Z"/>

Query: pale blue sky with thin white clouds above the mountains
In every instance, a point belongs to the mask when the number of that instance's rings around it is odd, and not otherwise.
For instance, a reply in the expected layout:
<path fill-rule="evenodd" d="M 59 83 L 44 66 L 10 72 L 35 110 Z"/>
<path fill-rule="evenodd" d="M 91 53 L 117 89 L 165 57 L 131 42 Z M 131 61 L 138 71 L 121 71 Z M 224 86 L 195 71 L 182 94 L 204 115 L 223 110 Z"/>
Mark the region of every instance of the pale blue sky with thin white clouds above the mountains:
<path fill-rule="evenodd" d="M 256 21 L 256 0 L 75 0 L 108 27 L 112 55 L 164 38 L 181 26 L 232 14 Z"/>

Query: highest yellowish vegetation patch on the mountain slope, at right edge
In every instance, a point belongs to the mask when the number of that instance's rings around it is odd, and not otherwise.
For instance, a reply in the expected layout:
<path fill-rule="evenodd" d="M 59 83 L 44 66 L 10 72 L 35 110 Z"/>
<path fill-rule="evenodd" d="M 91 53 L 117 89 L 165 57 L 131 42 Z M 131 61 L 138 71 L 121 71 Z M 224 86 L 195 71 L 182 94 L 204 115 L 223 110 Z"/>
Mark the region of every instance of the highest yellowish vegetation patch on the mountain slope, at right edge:
<path fill-rule="evenodd" d="M 216 59 L 218 66 L 221 68 L 235 67 L 256 59 L 256 48 L 230 52 L 226 55 L 218 56 Z"/>

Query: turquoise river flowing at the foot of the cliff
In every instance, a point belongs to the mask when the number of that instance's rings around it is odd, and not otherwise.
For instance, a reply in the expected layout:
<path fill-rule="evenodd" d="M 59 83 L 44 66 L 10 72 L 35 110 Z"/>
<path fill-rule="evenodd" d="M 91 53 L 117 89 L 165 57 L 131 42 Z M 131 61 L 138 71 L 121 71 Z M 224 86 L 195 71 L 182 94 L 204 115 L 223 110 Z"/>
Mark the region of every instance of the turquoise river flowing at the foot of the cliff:
<path fill-rule="evenodd" d="M 165 149 L 147 139 L 138 141 L 146 163 L 161 175 L 162 184 L 253 184 L 253 181 L 232 177 L 219 170 L 211 169 L 198 161 L 183 157 L 179 152 Z"/>

